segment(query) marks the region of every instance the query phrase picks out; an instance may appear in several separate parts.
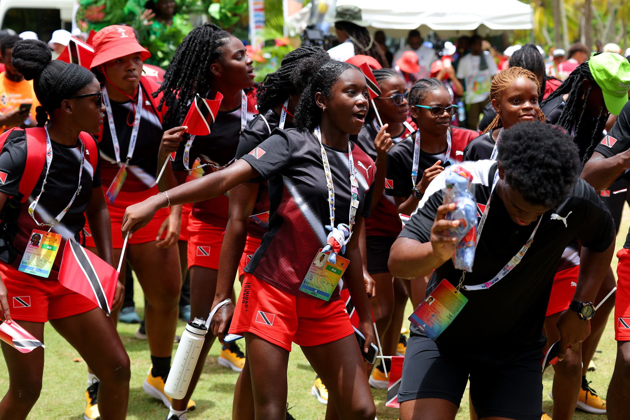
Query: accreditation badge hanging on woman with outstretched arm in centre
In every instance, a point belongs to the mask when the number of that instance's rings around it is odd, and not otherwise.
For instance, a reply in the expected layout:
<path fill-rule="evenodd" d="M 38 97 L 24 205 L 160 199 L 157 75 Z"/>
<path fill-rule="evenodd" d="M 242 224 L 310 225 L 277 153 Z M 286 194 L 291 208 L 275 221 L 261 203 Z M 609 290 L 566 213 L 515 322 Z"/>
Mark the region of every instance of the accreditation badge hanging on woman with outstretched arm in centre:
<path fill-rule="evenodd" d="M 313 259 L 311 267 L 302 281 L 300 290 L 328 302 L 339 280 L 341 280 L 343 272 L 348 268 L 350 261 L 337 256 L 336 264 L 332 264 L 328 261 L 330 251 L 323 253 L 321 250 L 319 248 L 317 255 Z"/>

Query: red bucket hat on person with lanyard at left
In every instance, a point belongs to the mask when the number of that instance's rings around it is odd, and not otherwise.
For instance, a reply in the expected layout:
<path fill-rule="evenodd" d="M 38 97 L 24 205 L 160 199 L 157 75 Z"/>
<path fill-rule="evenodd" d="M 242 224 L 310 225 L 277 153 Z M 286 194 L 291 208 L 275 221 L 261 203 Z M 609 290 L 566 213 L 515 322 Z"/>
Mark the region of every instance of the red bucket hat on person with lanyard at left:
<path fill-rule="evenodd" d="M 96 33 L 92 40 L 92 46 L 94 47 L 94 59 L 90 65 L 91 68 L 136 52 L 140 53 L 142 61 L 151 57 L 151 53 L 137 42 L 134 30 L 130 26 L 106 26 Z"/>

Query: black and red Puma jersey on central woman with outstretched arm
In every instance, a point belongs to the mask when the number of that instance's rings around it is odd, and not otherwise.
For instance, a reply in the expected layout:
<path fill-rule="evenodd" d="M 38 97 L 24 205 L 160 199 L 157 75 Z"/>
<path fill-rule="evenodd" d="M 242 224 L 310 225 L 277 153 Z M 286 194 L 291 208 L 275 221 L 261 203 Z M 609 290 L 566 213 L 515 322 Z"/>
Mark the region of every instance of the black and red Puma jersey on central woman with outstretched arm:
<path fill-rule="evenodd" d="M 356 139 L 356 136 L 351 136 Z M 350 162 L 348 150 L 324 145 L 335 186 L 335 225 L 350 223 Z M 357 215 L 370 216 L 374 161 L 352 142 L 358 181 Z M 284 292 L 316 299 L 300 292 L 312 259 L 326 244 L 330 224 L 328 187 L 319 141 L 311 132 L 289 128 L 273 135 L 243 156 L 262 179 L 268 180 L 269 232 L 245 267 L 256 278 Z M 371 167 L 370 167 L 371 166 Z M 367 170 L 364 169 L 369 168 Z M 358 234 L 358 229 L 353 229 Z M 339 298 L 339 288 L 331 300 Z"/>

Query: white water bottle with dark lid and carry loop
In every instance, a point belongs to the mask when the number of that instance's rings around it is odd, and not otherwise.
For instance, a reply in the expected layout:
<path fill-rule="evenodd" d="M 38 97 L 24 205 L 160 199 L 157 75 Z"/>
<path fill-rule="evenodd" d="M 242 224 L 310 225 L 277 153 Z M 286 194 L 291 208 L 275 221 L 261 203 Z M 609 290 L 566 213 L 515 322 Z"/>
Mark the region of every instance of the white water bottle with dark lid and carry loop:
<path fill-rule="evenodd" d="M 171 370 L 166 378 L 164 394 L 171 398 L 181 400 L 188 391 L 190 377 L 192 377 L 197 366 L 197 360 L 205 334 L 208 328 L 205 326 L 205 319 L 195 318 L 186 324 L 186 329 L 181 334 L 180 344 L 175 353 L 175 360 L 171 365 Z"/>

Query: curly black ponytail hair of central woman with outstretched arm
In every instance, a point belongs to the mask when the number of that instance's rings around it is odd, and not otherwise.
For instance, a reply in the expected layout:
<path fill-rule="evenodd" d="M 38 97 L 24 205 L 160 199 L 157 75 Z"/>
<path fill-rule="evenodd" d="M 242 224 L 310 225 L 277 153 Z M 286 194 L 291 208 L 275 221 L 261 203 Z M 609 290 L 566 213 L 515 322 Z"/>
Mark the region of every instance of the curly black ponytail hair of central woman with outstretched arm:
<path fill-rule="evenodd" d="M 300 101 L 295 107 L 293 123 L 295 127 L 303 130 L 312 130 L 321 121 L 321 110 L 315 103 L 315 94 L 321 93 L 327 98 L 332 93 L 333 84 L 338 81 L 341 74 L 350 69 L 357 69 L 356 65 L 343 61 L 327 60 L 316 72 L 298 67 L 292 74 L 292 80 L 306 81 L 306 88 L 300 95 Z M 294 82 L 297 86 L 297 83 Z"/>

